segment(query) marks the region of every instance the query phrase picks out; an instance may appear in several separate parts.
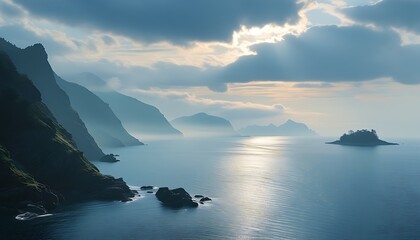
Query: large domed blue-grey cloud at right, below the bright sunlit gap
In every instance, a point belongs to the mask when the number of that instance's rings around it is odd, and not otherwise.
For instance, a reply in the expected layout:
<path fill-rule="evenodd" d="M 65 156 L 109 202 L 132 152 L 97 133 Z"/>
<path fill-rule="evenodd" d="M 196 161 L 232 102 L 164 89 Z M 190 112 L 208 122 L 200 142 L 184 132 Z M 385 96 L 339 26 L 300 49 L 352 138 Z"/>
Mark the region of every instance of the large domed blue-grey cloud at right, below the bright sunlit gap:
<path fill-rule="evenodd" d="M 362 26 L 313 27 L 280 43 L 256 45 L 253 56 L 219 69 L 214 81 L 366 81 L 420 83 L 420 45 L 401 46 L 394 31 Z"/>

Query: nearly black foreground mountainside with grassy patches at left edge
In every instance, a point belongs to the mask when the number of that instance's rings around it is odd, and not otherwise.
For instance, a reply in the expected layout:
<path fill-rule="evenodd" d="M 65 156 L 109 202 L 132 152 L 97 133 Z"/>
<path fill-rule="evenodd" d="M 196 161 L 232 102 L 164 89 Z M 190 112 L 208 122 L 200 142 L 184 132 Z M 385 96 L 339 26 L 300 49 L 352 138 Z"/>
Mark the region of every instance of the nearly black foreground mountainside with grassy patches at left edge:
<path fill-rule="evenodd" d="M 58 193 L 114 200 L 133 196 L 122 179 L 102 175 L 86 160 L 4 52 L 0 76 L 0 209 L 27 203 L 52 208 L 61 199 Z"/>

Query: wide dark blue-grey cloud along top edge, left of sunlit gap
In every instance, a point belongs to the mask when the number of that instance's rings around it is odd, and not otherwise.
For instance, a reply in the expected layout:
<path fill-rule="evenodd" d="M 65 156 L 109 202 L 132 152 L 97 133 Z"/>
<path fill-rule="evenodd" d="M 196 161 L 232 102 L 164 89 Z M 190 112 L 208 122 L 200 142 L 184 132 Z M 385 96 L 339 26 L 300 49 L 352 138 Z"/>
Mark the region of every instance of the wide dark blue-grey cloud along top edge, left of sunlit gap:
<path fill-rule="evenodd" d="M 30 13 L 144 42 L 230 41 L 245 26 L 298 20 L 295 0 L 14 0 Z"/>

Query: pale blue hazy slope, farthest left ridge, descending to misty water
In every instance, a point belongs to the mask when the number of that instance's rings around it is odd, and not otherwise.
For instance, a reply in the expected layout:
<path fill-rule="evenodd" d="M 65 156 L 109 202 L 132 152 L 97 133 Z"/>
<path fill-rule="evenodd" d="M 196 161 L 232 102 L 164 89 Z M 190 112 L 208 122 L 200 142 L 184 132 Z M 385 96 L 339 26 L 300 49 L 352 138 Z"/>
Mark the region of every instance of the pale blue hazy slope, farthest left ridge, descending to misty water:
<path fill-rule="evenodd" d="M 108 103 L 123 126 L 135 136 L 142 139 L 182 136 L 159 109 L 107 88 L 105 81 L 92 73 L 81 73 L 67 79 L 85 86 Z"/>

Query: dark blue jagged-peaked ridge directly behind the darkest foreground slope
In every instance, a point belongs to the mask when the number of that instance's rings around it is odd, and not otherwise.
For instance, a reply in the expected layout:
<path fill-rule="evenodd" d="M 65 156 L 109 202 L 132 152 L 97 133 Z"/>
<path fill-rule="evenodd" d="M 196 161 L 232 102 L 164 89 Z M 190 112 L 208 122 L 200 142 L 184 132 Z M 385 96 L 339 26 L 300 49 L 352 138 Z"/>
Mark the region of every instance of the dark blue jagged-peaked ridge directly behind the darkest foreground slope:
<path fill-rule="evenodd" d="M 72 135 L 76 145 L 86 157 L 90 160 L 99 160 L 104 156 L 79 115 L 71 108 L 68 96 L 57 85 L 44 47 L 41 44 L 35 44 L 20 49 L 0 39 L 0 50 L 9 55 L 19 73 L 27 75 L 33 81 L 42 94 L 43 102 L 57 121 Z"/>

